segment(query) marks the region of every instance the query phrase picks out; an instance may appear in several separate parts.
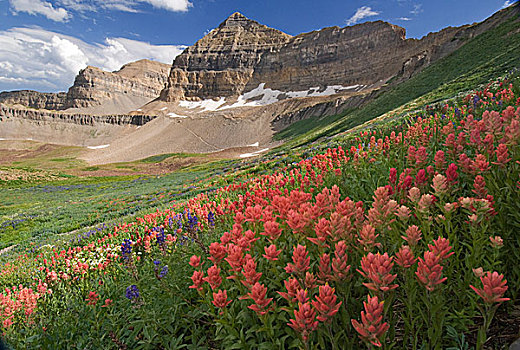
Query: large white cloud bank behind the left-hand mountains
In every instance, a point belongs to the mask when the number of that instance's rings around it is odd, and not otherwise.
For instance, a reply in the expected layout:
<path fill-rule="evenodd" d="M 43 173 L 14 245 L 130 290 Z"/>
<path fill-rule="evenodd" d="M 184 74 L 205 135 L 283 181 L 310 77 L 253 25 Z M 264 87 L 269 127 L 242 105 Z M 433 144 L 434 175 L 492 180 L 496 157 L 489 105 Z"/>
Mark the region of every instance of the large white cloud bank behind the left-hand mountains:
<path fill-rule="evenodd" d="M 87 65 L 114 71 L 143 58 L 171 64 L 184 48 L 127 38 L 90 44 L 41 28 L 12 28 L 0 31 L 0 91 L 67 91 Z"/>

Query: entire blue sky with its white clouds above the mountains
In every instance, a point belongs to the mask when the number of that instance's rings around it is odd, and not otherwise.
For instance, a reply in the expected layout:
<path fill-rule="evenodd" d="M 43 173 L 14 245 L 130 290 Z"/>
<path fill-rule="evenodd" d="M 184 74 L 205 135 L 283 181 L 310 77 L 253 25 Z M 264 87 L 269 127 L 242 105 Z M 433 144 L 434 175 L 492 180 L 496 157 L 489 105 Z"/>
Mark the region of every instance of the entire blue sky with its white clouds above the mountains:
<path fill-rule="evenodd" d="M 170 64 L 231 13 L 295 35 L 384 20 L 407 37 L 481 21 L 509 0 L 0 0 L 0 91 L 66 91 L 79 69 Z"/>

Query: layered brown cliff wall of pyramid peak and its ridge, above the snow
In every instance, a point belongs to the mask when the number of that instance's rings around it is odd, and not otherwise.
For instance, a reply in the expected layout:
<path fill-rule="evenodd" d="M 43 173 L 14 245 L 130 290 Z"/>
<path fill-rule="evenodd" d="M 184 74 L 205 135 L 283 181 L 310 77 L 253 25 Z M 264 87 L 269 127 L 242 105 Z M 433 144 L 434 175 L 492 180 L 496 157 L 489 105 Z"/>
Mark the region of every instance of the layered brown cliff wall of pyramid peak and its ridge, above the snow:
<path fill-rule="evenodd" d="M 510 11 L 512 12 L 512 11 Z M 291 37 L 234 13 L 173 62 L 163 101 L 239 96 L 265 84 L 280 91 L 408 79 L 500 21 L 446 28 L 421 40 L 383 22 Z"/>

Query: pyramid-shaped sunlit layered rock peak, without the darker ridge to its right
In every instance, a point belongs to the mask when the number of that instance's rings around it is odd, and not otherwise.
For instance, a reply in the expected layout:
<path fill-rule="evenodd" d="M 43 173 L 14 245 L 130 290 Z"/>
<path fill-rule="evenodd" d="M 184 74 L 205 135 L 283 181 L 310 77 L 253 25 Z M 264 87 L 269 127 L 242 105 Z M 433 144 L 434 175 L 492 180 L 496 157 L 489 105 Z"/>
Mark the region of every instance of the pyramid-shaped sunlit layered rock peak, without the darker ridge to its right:
<path fill-rule="evenodd" d="M 236 12 L 175 58 L 161 99 L 238 95 L 262 56 L 278 50 L 290 38 Z"/>

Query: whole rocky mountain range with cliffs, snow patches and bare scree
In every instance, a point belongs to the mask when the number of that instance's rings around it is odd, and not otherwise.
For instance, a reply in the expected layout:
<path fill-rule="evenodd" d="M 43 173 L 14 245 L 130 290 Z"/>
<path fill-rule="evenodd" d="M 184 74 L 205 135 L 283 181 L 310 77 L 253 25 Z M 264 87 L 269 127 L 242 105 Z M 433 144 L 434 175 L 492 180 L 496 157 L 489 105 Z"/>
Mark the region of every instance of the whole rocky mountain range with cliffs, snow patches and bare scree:
<path fill-rule="evenodd" d="M 0 140 L 103 146 L 85 155 L 90 163 L 264 150 L 275 131 L 361 106 L 519 12 L 422 39 L 383 21 L 291 36 L 234 13 L 172 65 L 87 67 L 66 93 L 1 93 Z"/>

